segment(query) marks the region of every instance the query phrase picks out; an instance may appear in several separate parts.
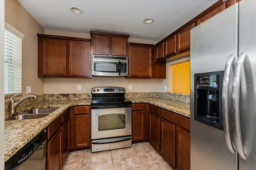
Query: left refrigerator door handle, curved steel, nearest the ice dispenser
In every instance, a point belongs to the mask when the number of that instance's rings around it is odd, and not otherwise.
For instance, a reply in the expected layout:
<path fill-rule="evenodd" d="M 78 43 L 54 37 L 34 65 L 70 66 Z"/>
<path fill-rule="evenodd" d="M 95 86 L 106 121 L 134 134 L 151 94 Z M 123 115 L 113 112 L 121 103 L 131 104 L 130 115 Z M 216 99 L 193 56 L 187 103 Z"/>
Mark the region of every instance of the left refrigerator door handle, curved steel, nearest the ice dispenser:
<path fill-rule="evenodd" d="M 232 67 L 236 64 L 236 55 L 232 54 L 228 57 L 226 62 L 224 76 L 223 76 L 223 85 L 222 85 L 222 120 L 223 120 L 223 129 L 224 129 L 224 137 L 226 141 L 226 145 L 228 150 L 232 154 L 236 154 L 235 146 L 232 145 L 232 141 L 234 141 L 232 137 L 232 132 L 230 131 L 230 109 L 228 106 L 228 97 L 229 97 L 229 82 L 230 82 L 230 74 Z"/>

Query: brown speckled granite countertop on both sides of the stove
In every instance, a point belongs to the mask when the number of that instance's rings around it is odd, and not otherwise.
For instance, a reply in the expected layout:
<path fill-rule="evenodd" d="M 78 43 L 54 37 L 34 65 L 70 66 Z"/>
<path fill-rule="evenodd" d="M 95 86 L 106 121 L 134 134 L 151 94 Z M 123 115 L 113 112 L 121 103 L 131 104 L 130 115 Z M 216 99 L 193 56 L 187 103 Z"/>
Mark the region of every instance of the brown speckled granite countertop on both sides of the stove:
<path fill-rule="evenodd" d="M 177 102 L 161 98 L 127 98 L 132 103 L 149 103 L 175 113 L 190 117 L 190 104 Z M 4 140 L 4 161 L 6 162 L 18 150 L 26 145 L 38 133 L 46 128 L 52 121 L 61 115 L 70 106 L 90 105 L 91 99 L 71 99 L 71 100 L 44 100 L 34 102 L 30 106 L 22 108 L 23 111 L 33 108 L 60 107 L 50 115 L 38 119 L 11 120 L 5 121 Z"/>

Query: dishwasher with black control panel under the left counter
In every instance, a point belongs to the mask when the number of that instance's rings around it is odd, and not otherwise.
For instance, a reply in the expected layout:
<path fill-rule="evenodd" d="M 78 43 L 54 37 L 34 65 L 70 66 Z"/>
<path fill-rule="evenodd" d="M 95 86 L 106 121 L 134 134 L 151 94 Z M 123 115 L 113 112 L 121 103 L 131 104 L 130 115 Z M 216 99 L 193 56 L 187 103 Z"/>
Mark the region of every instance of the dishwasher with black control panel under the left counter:
<path fill-rule="evenodd" d="M 47 129 L 42 130 L 4 163 L 5 170 L 46 170 Z"/>

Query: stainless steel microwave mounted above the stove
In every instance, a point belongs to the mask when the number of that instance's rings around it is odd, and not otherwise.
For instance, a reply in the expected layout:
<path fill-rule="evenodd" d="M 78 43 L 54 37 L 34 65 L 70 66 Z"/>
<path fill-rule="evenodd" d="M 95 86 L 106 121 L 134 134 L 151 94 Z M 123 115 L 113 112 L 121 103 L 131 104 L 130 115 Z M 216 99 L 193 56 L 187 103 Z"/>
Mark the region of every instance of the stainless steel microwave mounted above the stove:
<path fill-rule="evenodd" d="M 128 57 L 92 55 L 93 76 L 128 76 Z"/>

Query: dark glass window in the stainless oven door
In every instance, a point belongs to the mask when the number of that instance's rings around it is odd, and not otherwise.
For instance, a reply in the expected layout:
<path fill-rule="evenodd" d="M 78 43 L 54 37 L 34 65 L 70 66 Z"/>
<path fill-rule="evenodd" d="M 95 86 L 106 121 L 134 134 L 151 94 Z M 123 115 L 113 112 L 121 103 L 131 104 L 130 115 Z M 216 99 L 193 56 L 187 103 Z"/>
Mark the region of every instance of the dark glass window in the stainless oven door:
<path fill-rule="evenodd" d="M 125 114 L 107 114 L 98 117 L 98 130 L 106 131 L 125 128 Z"/>

